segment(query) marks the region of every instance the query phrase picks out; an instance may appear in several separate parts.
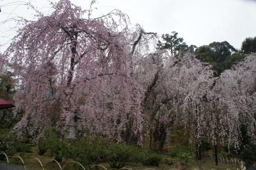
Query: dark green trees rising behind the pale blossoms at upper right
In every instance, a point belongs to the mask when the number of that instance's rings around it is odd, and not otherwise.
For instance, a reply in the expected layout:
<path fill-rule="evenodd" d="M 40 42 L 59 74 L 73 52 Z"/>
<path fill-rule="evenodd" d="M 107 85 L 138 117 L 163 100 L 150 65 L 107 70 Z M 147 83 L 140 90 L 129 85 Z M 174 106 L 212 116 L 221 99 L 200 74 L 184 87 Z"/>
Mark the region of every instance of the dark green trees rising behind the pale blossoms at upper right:
<path fill-rule="evenodd" d="M 186 51 L 195 52 L 196 58 L 212 65 L 212 68 L 216 71 L 216 76 L 244 59 L 245 54 L 256 52 L 256 36 L 254 38 L 246 38 L 241 45 L 241 50 L 237 50 L 227 41 L 212 42 L 209 45 L 200 47 L 188 45 L 184 42 L 184 38 L 179 37 L 175 31 L 171 35 L 164 34 L 161 38 L 163 42 L 159 41 L 157 43 L 157 49 L 168 49 L 172 56 L 177 58 Z"/>

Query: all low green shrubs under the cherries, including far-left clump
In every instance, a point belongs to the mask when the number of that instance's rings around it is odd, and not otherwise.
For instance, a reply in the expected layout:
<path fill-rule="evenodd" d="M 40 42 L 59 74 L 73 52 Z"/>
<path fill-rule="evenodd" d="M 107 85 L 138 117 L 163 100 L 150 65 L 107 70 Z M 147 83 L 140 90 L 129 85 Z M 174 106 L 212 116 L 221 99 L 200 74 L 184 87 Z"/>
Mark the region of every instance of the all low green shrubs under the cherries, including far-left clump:
<path fill-rule="evenodd" d="M 21 140 L 23 142 L 20 143 L 17 141 L 17 136 L 12 133 L 3 134 L 8 135 L 0 136 L 1 151 L 8 155 L 31 152 L 31 146 L 26 143 L 26 139 Z M 75 160 L 84 166 L 107 162 L 110 167 L 118 169 L 127 164 L 143 164 L 144 166 L 159 166 L 160 162 L 173 164 L 174 161 L 168 159 L 170 157 L 175 158 L 175 160 L 177 158 L 178 160 L 186 160 L 184 162 L 186 164 L 191 158 L 185 149 L 172 150 L 167 153 L 166 159 L 154 151 L 138 146 L 114 143 L 102 137 L 81 137 L 76 141 L 70 141 L 63 139 L 58 130 L 46 130 L 44 137 L 38 140 L 37 146 L 39 155 L 47 153 L 47 156 L 54 157 L 58 162 L 61 162 L 63 158 Z"/>

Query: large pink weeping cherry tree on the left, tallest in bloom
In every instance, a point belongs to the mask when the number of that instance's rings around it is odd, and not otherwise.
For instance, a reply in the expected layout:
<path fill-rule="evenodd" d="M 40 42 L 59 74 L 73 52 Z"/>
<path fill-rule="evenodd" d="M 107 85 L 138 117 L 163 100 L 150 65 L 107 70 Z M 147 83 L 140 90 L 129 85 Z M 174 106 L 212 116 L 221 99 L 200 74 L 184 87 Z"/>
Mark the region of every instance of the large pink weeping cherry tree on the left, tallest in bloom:
<path fill-rule="evenodd" d="M 140 143 L 141 90 L 132 71 L 136 47 L 152 33 L 129 29 L 118 10 L 91 19 L 91 8 L 68 0 L 52 8 L 26 21 L 6 50 L 20 84 L 16 111 L 24 111 L 16 129 L 35 136 L 47 126 L 85 128 L 122 141 L 129 127 Z"/>

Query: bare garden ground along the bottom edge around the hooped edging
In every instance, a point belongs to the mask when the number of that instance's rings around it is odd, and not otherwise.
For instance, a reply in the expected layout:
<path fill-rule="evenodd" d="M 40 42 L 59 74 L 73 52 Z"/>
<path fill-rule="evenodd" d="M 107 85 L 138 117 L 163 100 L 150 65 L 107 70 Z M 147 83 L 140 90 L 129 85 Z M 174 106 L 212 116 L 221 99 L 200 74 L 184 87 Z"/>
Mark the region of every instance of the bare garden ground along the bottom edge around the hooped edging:
<path fill-rule="evenodd" d="M 58 164 L 56 162 L 52 162 L 52 158 L 50 157 L 50 155 L 48 153 L 45 153 L 45 155 L 38 155 L 37 153 L 37 148 L 34 146 L 32 147 L 32 153 L 18 153 L 17 155 L 19 155 L 20 157 L 22 157 L 24 159 L 25 162 L 25 166 L 27 170 L 39 170 L 42 169 L 42 167 L 40 166 L 40 163 L 38 162 L 38 160 L 36 160 L 36 158 L 38 158 L 39 160 L 42 161 L 42 164 L 44 166 L 44 169 L 60 169 L 60 167 L 58 167 Z M 36 157 L 36 158 L 35 158 Z M 65 166 L 65 164 L 67 164 L 67 162 L 71 162 L 72 160 L 63 160 L 63 162 L 60 163 L 60 166 L 63 168 Z M 4 164 L 6 161 L 1 161 L 0 164 Z M 18 165 L 22 165 L 21 160 L 19 160 L 19 158 L 10 158 L 10 164 L 18 164 Z M 107 163 L 103 163 L 100 164 L 104 167 L 106 167 L 106 169 L 108 170 L 113 170 L 113 168 L 109 167 L 109 165 Z M 0 166 L 1 167 L 1 166 Z M 22 166 L 20 166 L 22 167 Z M 129 169 L 136 169 L 136 170 L 143 170 L 143 169 L 156 169 L 156 170 L 168 170 L 168 169 L 175 169 L 175 165 L 173 164 L 159 164 L 159 166 L 143 166 L 142 164 L 127 164 L 127 166 L 125 166 L 126 168 Z M 85 167 L 86 169 L 89 169 L 90 167 Z M 91 167 L 90 169 L 102 169 L 103 167 Z M 124 167 L 123 167 L 124 168 Z M 239 167 L 237 166 L 233 166 L 230 164 L 219 164 L 218 166 L 215 166 L 215 162 L 214 160 L 211 160 L 211 158 L 205 158 L 202 161 L 202 166 L 201 169 L 220 169 L 220 170 L 225 170 L 225 169 L 238 169 Z M 76 166 L 75 163 L 68 163 L 65 166 L 65 169 L 83 169 L 79 166 Z M 186 166 L 186 169 L 198 169 L 198 161 L 195 160 L 189 160 L 188 162 L 188 166 Z M 20 169 L 21 170 L 21 169 Z"/>

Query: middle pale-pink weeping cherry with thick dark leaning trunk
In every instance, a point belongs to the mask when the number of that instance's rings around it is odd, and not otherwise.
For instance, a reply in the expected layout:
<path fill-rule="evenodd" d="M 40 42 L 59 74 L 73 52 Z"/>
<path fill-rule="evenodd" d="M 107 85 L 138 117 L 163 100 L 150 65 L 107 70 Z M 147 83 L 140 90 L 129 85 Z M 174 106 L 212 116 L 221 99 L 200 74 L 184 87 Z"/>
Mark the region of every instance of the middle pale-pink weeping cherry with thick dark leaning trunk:
<path fill-rule="evenodd" d="M 211 91 L 214 84 L 213 71 L 209 66 L 195 59 L 191 53 L 185 54 L 181 59 L 168 56 L 164 52 L 157 52 L 153 56 L 162 58 L 163 64 L 150 66 L 155 71 L 150 73 L 151 78 L 148 79 L 150 83 L 145 88 L 142 102 L 142 109 L 145 116 L 147 115 L 149 126 L 147 129 L 150 148 L 156 151 L 163 150 L 166 137 L 175 122 L 182 122 L 193 128 L 191 140 L 200 144 L 204 134 L 202 131 L 205 127 L 204 118 L 209 113 L 205 112 L 207 109 L 203 111 L 203 107 L 198 111 L 192 106 L 201 105 Z M 141 76 L 145 77 L 144 74 Z M 199 114 L 201 116 L 198 116 Z"/>

